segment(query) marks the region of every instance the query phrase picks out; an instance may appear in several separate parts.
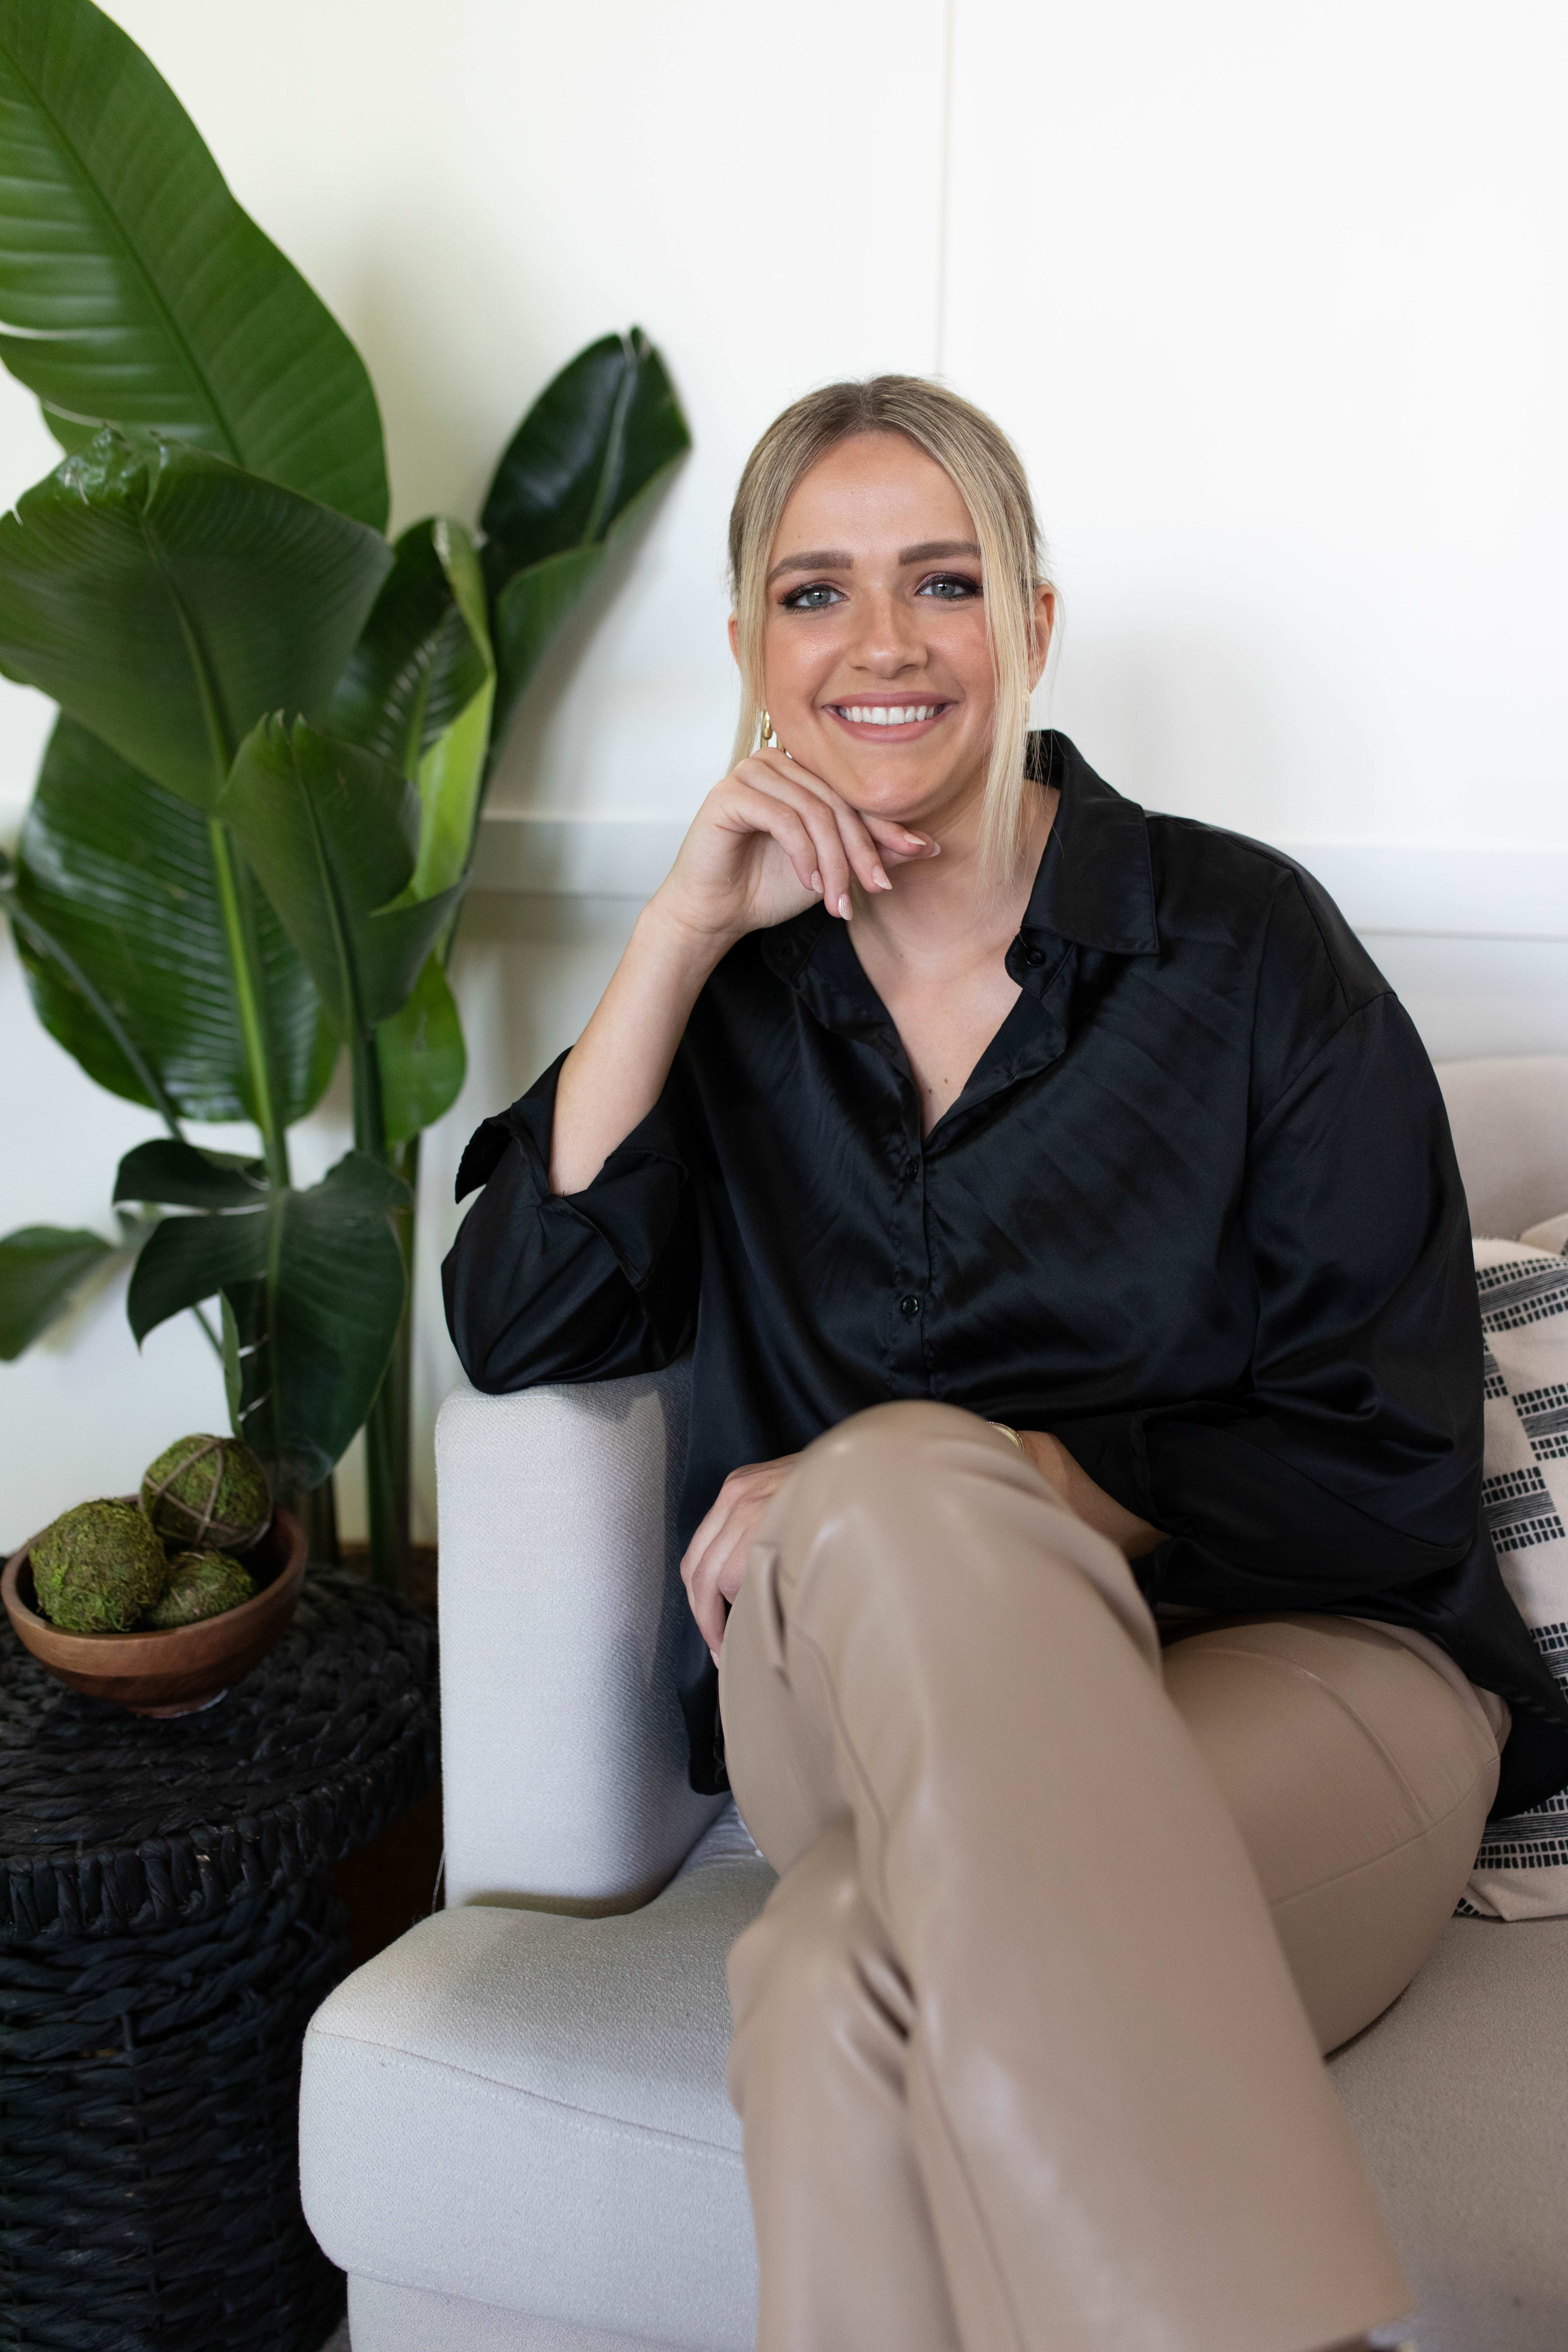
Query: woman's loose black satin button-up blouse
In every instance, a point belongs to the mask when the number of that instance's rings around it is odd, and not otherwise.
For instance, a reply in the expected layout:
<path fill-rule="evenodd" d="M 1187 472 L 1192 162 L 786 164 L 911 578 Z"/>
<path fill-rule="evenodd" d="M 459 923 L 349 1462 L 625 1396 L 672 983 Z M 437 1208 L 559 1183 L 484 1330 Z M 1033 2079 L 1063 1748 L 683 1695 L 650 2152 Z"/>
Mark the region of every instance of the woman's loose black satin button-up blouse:
<path fill-rule="evenodd" d="M 1479 1517 L 1481 1324 L 1443 1098 L 1403 1007 L 1276 849 L 1121 800 L 1060 734 L 1006 969 L 929 1136 L 823 908 L 743 938 L 649 1117 L 550 1192 L 555 1063 L 458 1169 L 475 1388 L 691 1350 L 686 1543 L 729 1470 L 886 1397 L 1053 1430 L 1171 1541 L 1152 1602 L 1415 1625 L 1516 1715 L 1500 1811 L 1568 1780 L 1568 1703 Z M 722 1783 L 689 1630 L 698 1788 Z"/>

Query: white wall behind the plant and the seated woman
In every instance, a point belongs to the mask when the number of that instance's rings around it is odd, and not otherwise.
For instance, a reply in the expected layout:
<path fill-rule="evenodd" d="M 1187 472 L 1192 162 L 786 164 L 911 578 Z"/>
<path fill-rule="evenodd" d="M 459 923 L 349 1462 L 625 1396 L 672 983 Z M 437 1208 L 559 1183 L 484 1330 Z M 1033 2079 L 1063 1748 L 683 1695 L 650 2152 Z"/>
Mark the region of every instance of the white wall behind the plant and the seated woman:
<path fill-rule="evenodd" d="M 943 369 L 1016 433 L 1067 597 L 1044 715 L 1112 783 L 1316 861 L 1434 1051 L 1568 1049 L 1559 7 L 115 14 L 360 341 L 397 522 L 473 515 L 545 376 L 630 320 L 696 433 L 498 781 L 491 882 L 562 880 L 515 849 L 538 811 L 599 823 L 567 856 L 578 894 L 470 906 L 473 1073 L 421 1211 L 425 1411 L 451 1367 L 430 1275 L 456 1152 L 614 962 L 635 896 L 604 891 L 642 887 L 668 840 L 618 821 L 677 823 L 722 769 L 729 494 L 766 419 L 830 374 Z M 52 456 L 2 379 L 0 496 Z M 0 684 L 0 826 L 45 724 Z M 150 1122 L 38 1030 L 9 948 L 0 1068 L 0 1230 L 101 1225 Z M 303 1164 L 343 1141 L 336 1105 Z M 219 1418 L 193 1327 L 139 1364 L 113 1301 L 78 1315 L 0 1367 L 0 1538 Z"/>

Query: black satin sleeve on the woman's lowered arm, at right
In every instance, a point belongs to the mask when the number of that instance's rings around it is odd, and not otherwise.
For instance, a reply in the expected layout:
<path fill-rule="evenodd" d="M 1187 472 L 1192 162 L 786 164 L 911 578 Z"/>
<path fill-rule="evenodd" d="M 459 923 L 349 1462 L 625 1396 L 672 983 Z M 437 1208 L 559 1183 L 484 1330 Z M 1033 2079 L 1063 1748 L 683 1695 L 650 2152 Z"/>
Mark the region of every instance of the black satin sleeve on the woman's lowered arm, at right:
<path fill-rule="evenodd" d="M 1173 1538 L 1150 1559 L 1154 1595 L 1333 1609 L 1458 1566 L 1481 1479 L 1469 1216 L 1432 1063 L 1392 995 L 1265 1110 L 1241 1218 L 1248 1392 L 1060 1430 Z"/>

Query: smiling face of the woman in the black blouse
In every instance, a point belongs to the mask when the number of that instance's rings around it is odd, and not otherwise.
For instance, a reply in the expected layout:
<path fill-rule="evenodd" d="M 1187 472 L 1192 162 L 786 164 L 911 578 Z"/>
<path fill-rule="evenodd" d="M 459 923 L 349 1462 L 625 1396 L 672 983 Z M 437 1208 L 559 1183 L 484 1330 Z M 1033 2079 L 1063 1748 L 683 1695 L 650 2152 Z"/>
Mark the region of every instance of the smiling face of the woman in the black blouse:
<path fill-rule="evenodd" d="M 1037 673 L 1048 628 L 1044 590 Z M 936 459 L 860 433 L 802 475 L 769 555 L 762 654 L 780 748 L 851 807 L 917 823 L 983 790 L 980 548 Z"/>

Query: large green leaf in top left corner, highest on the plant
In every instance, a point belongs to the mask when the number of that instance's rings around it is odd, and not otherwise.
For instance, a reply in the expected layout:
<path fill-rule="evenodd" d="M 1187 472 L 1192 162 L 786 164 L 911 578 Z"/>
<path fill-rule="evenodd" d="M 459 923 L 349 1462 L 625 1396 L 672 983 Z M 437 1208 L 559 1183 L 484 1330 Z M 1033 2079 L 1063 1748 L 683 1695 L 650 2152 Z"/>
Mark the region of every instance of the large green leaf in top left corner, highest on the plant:
<path fill-rule="evenodd" d="M 0 0 L 0 320 L 66 447 L 143 426 L 386 527 L 357 350 L 92 0 Z"/>

